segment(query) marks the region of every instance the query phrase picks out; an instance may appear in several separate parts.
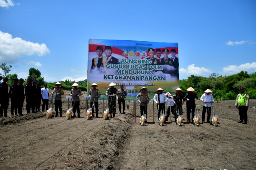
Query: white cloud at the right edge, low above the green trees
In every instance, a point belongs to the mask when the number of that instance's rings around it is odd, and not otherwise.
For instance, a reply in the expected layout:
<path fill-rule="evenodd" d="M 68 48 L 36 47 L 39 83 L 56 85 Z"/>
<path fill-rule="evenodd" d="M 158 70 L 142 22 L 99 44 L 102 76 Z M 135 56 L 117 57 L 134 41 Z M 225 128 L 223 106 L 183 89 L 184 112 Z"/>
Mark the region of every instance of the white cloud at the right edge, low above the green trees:
<path fill-rule="evenodd" d="M 239 66 L 229 65 L 227 67 L 223 67 L 222 71 L 224 73 L 239 73 L 240 71 L 256 71 L 256 62 L 245 63 Z"/>

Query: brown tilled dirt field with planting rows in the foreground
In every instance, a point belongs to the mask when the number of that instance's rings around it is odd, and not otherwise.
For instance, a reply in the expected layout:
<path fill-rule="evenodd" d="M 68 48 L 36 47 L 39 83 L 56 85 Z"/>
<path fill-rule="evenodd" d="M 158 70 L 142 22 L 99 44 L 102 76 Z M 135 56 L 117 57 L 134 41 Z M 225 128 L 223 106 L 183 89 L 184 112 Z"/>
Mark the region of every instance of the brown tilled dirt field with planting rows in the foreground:
<path fill-rule="evenodd" d="M 65 93 L 67 94 L 67 93 Z M 65 96 L 63 96 L 65 97 Z M 247 125 L 239 121 L 235 101 L 213 104 L 219 126 L 178 126 L 172 120 L 153 123 L 153 102 L 148 123 L 134 122 L 133 103 L 126 114 L 111 120 L 81 116 L 67 120 L 68 101 L 62 99 L 63 117 L 47 119 L 45 113 L 0 118 L 1 169 L 256 169 L 256 100 L 250 100 Z M 202 102 L 197 101 L 201 116 Z M 102 113 L 102 101 L 99 103 Z M 139 115 L 139 105 L 136 103 Z M 9 107 L 10 110 L 10 107 Z M 186 107 L 183 107 L 186 117 Z M 117 106 L 118 111 L 118 106 Z M 118 111 L 119 112 L 119 111 Z M 118 113 L 117 112 L 117 113 Z M 101 117 L 101 114 L 100 114 Z"/>

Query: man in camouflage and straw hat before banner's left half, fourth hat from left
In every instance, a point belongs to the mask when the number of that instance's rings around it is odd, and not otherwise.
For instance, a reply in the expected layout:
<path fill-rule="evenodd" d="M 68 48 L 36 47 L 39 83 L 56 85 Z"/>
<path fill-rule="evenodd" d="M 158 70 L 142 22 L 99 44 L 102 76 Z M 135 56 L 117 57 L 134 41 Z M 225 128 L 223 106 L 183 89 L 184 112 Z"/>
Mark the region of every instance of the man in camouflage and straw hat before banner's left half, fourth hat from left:
<path fill-rule="evenodd" d="M 109 114 L 110 118 L 115 117 L 116 113 L 116 96 L 118 95 L 117 89 L 114 87 L 116 84 L 111 82 L 109 84 L 110 88 L 106 91 L 106 96 L 109 96 Z"/>

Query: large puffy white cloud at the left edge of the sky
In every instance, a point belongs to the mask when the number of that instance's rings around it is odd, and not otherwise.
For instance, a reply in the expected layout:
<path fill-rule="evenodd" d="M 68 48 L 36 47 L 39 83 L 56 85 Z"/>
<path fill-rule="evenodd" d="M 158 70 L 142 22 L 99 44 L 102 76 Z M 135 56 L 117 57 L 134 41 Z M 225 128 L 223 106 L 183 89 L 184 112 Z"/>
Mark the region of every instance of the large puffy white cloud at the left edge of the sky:
<path fill-rule="evenodd" d="M 0 31 L 0 63 L 15 63 L 20 56 L 44 56 L 50 53 L 46 45 L 13 38 L 11 34 Z"/>

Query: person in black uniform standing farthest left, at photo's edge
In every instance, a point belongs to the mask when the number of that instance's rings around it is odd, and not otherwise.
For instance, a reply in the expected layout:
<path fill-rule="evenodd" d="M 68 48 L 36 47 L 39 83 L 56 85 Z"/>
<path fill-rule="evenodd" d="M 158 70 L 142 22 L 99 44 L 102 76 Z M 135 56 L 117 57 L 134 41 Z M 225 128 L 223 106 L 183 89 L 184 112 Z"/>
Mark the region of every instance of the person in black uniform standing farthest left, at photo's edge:
<path fill-rule="evenodd" d="M 7 81 L 9 80 L 8 77 L 3 77 L 3 82 L 0 84 L 0 117 L 7 117 L 7 109 L 9 106 L 9 94 L 8 94 L 8 84 Z"/>

